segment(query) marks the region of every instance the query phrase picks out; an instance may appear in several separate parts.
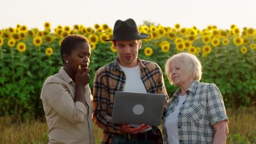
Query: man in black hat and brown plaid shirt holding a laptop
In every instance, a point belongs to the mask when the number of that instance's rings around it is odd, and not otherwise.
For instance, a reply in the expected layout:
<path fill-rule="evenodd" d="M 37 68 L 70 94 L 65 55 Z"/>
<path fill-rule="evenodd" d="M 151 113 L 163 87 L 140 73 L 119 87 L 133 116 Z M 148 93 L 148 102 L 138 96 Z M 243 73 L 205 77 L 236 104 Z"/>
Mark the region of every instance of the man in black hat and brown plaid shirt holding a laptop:
<path fill-rule="evenodd" d="M 93 84 L 93 120 L 104 130 L 103 144 L 163 143 L 162 134 L 156 126 L 141 124 L 133 127 L 111 123 L 116 91 L 166 94 L 166 108 L 168 96 L 162 70 L 156 63 L 138 58 L 141 39 L 148 37 L 139 33 L 133 19 L 115 22 L 113 39 L 109 40 L 117 49 L 118 57 L 97 70 Z"/>

